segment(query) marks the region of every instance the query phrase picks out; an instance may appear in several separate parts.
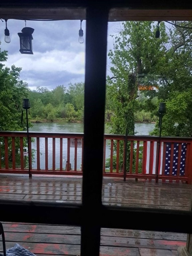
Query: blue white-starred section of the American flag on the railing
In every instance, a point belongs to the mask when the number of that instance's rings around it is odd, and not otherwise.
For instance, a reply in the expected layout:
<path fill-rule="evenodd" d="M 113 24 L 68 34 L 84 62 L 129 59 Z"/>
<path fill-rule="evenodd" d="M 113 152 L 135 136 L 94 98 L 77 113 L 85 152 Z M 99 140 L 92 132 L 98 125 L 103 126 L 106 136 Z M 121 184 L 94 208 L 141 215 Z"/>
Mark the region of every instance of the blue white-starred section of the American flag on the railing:
<path fill-rule="evenodd" d="M 172 176 L 176 176 L 177 172 L 179 172 L 180 176 L 185 175 L 185 159 L 186 159 L 186 150 L 187 143 L 174 143 L 174 147 L 171 148 L 171 143 L 166 143 L 166 152 L 165 152 L 165 175 L 170 175 L 172 172 Z M 180 150 L 179 150 L 180 147 Z M 171 163 L 171 159 L 173 161 Z M 172 169 L 171 169 L 172 166 Z"/>

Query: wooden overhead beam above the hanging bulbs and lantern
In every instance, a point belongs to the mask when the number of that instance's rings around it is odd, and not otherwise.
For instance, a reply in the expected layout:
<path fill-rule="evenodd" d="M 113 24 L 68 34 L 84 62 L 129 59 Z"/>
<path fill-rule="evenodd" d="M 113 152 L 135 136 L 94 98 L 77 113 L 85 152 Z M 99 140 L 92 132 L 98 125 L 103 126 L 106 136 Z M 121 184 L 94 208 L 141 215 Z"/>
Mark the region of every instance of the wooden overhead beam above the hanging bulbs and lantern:
<path fill-rule="evenodd" d="M 54 19 L 54 20 L 85 20 L 86 8 L 9 8 L 0 7 L 1 19 Z M 108 21 L 163 21 L 192 20 L 191 9 L 130 9 L 112 8 Z"/>

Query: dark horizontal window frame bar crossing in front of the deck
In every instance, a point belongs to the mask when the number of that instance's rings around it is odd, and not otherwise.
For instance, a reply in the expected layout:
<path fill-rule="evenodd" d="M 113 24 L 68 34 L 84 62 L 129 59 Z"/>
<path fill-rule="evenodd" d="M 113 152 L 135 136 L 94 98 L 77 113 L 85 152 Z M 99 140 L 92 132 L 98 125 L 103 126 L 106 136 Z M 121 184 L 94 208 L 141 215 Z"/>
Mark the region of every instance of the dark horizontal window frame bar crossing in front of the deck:
<path fill-rule="evenodd" d="M 73 226 L 85 226 L 87 223 L 87 209 L 79 204 L 1 199 L 0 209 L 2 222 Z M 102 205 L 92 208 L 91 212 L 91 216 L 96 213 L 93 226 L 98 228 L 192 233 L 192 226 L 189 225 L 192 211 Z"/>

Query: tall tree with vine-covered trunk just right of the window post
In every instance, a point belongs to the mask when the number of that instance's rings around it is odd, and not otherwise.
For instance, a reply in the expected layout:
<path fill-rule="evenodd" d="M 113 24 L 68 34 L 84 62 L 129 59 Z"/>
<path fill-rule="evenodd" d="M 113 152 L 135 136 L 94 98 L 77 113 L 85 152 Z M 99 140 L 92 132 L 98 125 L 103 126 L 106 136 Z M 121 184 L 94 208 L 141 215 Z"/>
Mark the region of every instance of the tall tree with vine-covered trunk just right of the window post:
<path fill-rule="evenodd" d="M 164 23 L 160 24 L 161 38 L 155 39 L 156 26 L 151 21 L 123 22 L 123 30 L 115 36 L 114 50 L 109 51 L 110 70 L 107 95 L 114 101 L 114 116 L 111 117 L 112 132 L 134 135 L 134 109 L 138 97 L 138 77 L 146 83 L 154 83 L 160 68 L 164 65 L 167 42 Z M 147 78 L 147 79 L 146 79 Z M 147 81 L 146 81 L 147 80 Z M 129 163 L 130 145 L 127 159 Z M 120 165 L 122 167 L 123 145 L 120 146 Z"/>

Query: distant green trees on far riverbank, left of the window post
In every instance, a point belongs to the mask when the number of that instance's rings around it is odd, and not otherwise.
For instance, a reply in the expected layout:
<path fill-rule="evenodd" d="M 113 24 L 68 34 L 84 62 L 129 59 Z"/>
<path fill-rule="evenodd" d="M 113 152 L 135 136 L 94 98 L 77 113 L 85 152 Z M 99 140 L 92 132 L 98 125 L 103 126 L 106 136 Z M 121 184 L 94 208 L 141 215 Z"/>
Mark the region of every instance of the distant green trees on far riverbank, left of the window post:
<path fill-rule="evenodd" d="M 37 87 L 36 90 L 29 90 L 28 93 L 31 103 L 30 117 L 33 119 L 83 120 L 83 83 L 70 83 L 68 89 L 64 85 L 58 85 L 52 91 L 46 87 Z"/>

